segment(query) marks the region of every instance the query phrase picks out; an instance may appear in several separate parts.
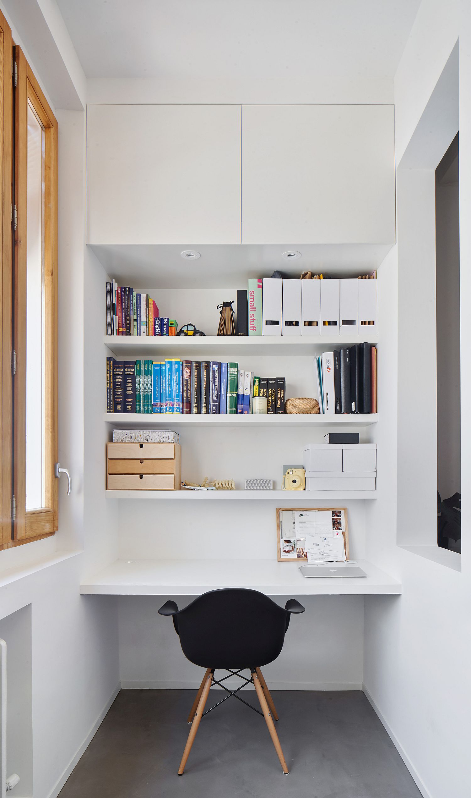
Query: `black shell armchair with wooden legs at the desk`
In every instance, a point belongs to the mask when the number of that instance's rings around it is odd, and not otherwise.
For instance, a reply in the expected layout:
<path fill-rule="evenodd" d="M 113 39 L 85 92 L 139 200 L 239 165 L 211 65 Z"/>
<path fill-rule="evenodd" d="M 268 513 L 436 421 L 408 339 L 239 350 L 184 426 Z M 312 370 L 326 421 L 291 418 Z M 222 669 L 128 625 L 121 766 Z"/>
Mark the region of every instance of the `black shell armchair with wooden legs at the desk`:
<path fill-rule="evenodd" d="M 179 776 L 183 775 L 203 715 L 214 709 L 211 707 L 204 711 L 212 684 L 230 693 L 222 701 L 234 696 L 250 709 L 255 707 L 237 693 L 246 685 L 254 685 L 261 706 L 261 712 L 258 709 L 255 712 L 265 717 L 283 772 L 289 772 L 273 723 L 273 718 L 278 720 L 277 710 L 260 669 L 280 654 L 289 618 L 295 612 L 304 612 L 304 606 L 296 599 L 289 599 L 283 609 L 263 593 L 241 589 L 210 591 L 194 599 L 183 610 L 179 610 L 175 601 L 167 601 L 160 607 L 159 614 L 172 616 L 186 658 L 194 665 L 206 668 L 188 717 L 191 729 L 180 762 Z M 215 670 L 229 671 L 229 675 L 217 680 L 214 678 Z M 250 678 L 241 676 L 243 670 L 250 671 Z M 244 684 L 236 690 L 230 690 L 222 682 L 231 675 L 240 676 Z"/>

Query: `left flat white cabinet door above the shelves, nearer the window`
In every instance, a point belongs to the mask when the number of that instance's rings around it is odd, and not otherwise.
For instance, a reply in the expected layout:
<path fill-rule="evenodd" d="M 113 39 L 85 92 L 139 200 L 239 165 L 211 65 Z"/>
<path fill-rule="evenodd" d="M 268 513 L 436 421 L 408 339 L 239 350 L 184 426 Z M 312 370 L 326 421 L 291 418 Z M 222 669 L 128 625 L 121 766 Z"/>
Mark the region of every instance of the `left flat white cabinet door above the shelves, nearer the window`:
<path fill-rule="evenodd" d="M 240 242 L 240 105 L 88 105 L 87 243 Z"/>

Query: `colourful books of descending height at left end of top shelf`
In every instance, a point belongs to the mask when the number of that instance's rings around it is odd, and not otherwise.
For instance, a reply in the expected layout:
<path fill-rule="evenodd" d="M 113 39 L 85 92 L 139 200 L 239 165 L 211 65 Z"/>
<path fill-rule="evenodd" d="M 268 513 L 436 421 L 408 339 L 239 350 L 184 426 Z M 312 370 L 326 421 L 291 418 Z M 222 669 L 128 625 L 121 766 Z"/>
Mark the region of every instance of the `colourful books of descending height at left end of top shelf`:
<path fill-rule="evenodd" d="M 130 286 L 106 284 L 107 335 L 176 335 L 175 318 L 159 315 L 159 308 L 149 294 L 139 294 Z"/>

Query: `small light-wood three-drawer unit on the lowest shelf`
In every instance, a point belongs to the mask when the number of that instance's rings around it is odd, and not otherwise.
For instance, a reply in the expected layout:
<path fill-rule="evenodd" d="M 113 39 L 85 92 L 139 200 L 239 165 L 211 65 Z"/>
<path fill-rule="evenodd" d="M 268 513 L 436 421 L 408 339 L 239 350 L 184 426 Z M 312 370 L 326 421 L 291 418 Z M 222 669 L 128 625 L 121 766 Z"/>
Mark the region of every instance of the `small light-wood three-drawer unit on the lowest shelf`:
<path fill-rule="evenodd" d="M 111 491 L 178 491 L 179 444 L 107 444 L 107 488 Z"/>

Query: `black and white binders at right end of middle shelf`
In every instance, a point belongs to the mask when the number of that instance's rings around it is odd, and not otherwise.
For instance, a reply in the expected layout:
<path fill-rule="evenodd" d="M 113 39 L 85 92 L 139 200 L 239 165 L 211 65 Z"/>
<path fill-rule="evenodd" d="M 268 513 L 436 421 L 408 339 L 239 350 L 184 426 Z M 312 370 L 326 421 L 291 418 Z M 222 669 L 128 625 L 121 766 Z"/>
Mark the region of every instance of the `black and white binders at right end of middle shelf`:
<path fill-rule="evenodd" d="M 377 413 L 377 363 L 366 342 L 314 358 L 320 413 Z"/>

